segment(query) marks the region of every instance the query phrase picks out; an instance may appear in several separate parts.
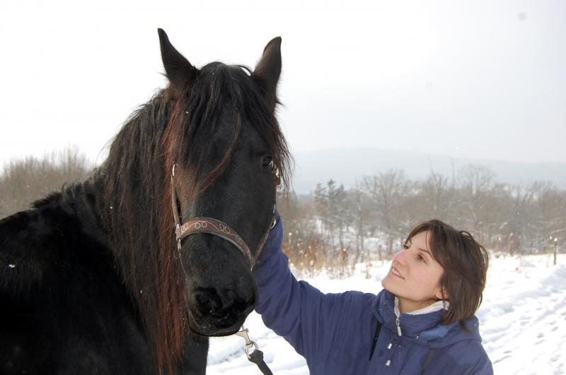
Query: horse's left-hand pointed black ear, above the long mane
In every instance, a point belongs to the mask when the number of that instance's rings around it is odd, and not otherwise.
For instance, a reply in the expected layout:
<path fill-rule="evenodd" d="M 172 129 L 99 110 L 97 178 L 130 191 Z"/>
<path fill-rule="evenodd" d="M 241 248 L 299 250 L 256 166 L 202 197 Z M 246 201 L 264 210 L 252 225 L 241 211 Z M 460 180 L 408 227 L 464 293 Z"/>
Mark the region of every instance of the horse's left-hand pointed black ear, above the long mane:
<path fill-rule="evenodd" d="M 192 66 L 190 62 L 185 59 L 185 56 L 180 54 L 173 44 L 169 42 L 169 38 L 163 29 L 157 29 L 159 34 L 159 44 L 161 46 L 161 60 L 163 60 L 163 67 L 167 74 L 169 82 L 175 88 L 182 89 L 185 85 L 190 85 L 195 78 L 197 78 L 198 69 Z"/>

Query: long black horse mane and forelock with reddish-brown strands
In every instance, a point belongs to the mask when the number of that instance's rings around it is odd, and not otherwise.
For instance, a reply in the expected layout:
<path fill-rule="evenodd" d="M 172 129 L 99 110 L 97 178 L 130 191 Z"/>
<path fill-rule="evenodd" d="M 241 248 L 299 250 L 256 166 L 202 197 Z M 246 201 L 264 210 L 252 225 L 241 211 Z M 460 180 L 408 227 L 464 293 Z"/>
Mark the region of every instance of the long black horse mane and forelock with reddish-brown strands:
<path fill-rule="evenodd" d="M 160 374 L 175 374 L 188 333 L 185 276 L 175 255 L 171 168 L 183 164 L 196 178 L 207 157 L 204 143 L 230 104 L 235 116 L 229 146 L 206 179 L 192 181 L 195 191 L 213 184 L 229 165 L 244 117 L 269 145 L 288 189 L 292 160 L 265 97 L 249 69 L 208 64 L 192 87 L 170 85 L 132 113 L 96 172 L 104 181 L 105 231 Z"/>

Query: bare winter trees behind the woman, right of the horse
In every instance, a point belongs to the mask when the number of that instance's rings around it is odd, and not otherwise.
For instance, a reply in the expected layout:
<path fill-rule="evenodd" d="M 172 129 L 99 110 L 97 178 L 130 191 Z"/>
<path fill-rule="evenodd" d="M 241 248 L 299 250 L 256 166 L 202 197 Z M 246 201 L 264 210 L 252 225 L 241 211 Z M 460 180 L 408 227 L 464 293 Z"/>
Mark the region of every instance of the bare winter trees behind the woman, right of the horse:
<path fill-rule="evenodd" d="M 363 177 L 345 189 L 336 181 L 279 204 L 284 251 L 296 268 L 334 275 L 359 262 L 391 258 L 410 228 L 437 218 L 468 230 L 487 249 L 506 254 L 550 253 L 566 245 L 566 191 L 548 181 L 503 184 L 481 165 L 453 176 L 431 171 L 412 180 L 398 169 Z"/>

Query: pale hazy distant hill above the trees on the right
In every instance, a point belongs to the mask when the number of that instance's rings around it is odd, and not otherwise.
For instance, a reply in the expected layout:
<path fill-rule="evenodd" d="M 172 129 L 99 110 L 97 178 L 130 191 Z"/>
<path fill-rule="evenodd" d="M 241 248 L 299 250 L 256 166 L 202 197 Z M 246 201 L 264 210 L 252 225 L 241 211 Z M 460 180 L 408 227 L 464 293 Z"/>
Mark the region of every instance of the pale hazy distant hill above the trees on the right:
<path fill-rule="evenodd" d="M 451 176 L 467 164 L 485 165 L 495 172 L 495 179 L 511 184 L 528 184 L 535 180 L 553 181 L 566 189 L 566 163 L 563 162 L 504 162 L 500 160 L 473 160 L 445 155 L 431 155 L 377 148 L 329 148 L 294 153 L 296 167 L 294 189 L 305 194 L 318 182 L 334 179 L 347 187 L 357 180 L 387 169 L 403 169 L 410 179 L 423 179 L 431 169 Z"/>

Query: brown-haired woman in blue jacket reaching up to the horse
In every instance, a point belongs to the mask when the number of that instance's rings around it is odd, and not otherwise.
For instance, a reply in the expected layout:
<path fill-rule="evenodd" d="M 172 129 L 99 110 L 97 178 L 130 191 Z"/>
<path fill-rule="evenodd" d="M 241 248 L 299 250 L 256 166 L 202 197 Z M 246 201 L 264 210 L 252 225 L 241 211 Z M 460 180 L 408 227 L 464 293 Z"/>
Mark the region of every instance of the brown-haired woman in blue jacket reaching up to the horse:
<path fill-rule="evenodd" d="M 279 218 L 258 258 L 255 310 L 311 374 L 492 374 L 475 311 L 487 251 L 439 220 L 413 228 L 379 294 L 323 294 L 297 281 Z"/>

